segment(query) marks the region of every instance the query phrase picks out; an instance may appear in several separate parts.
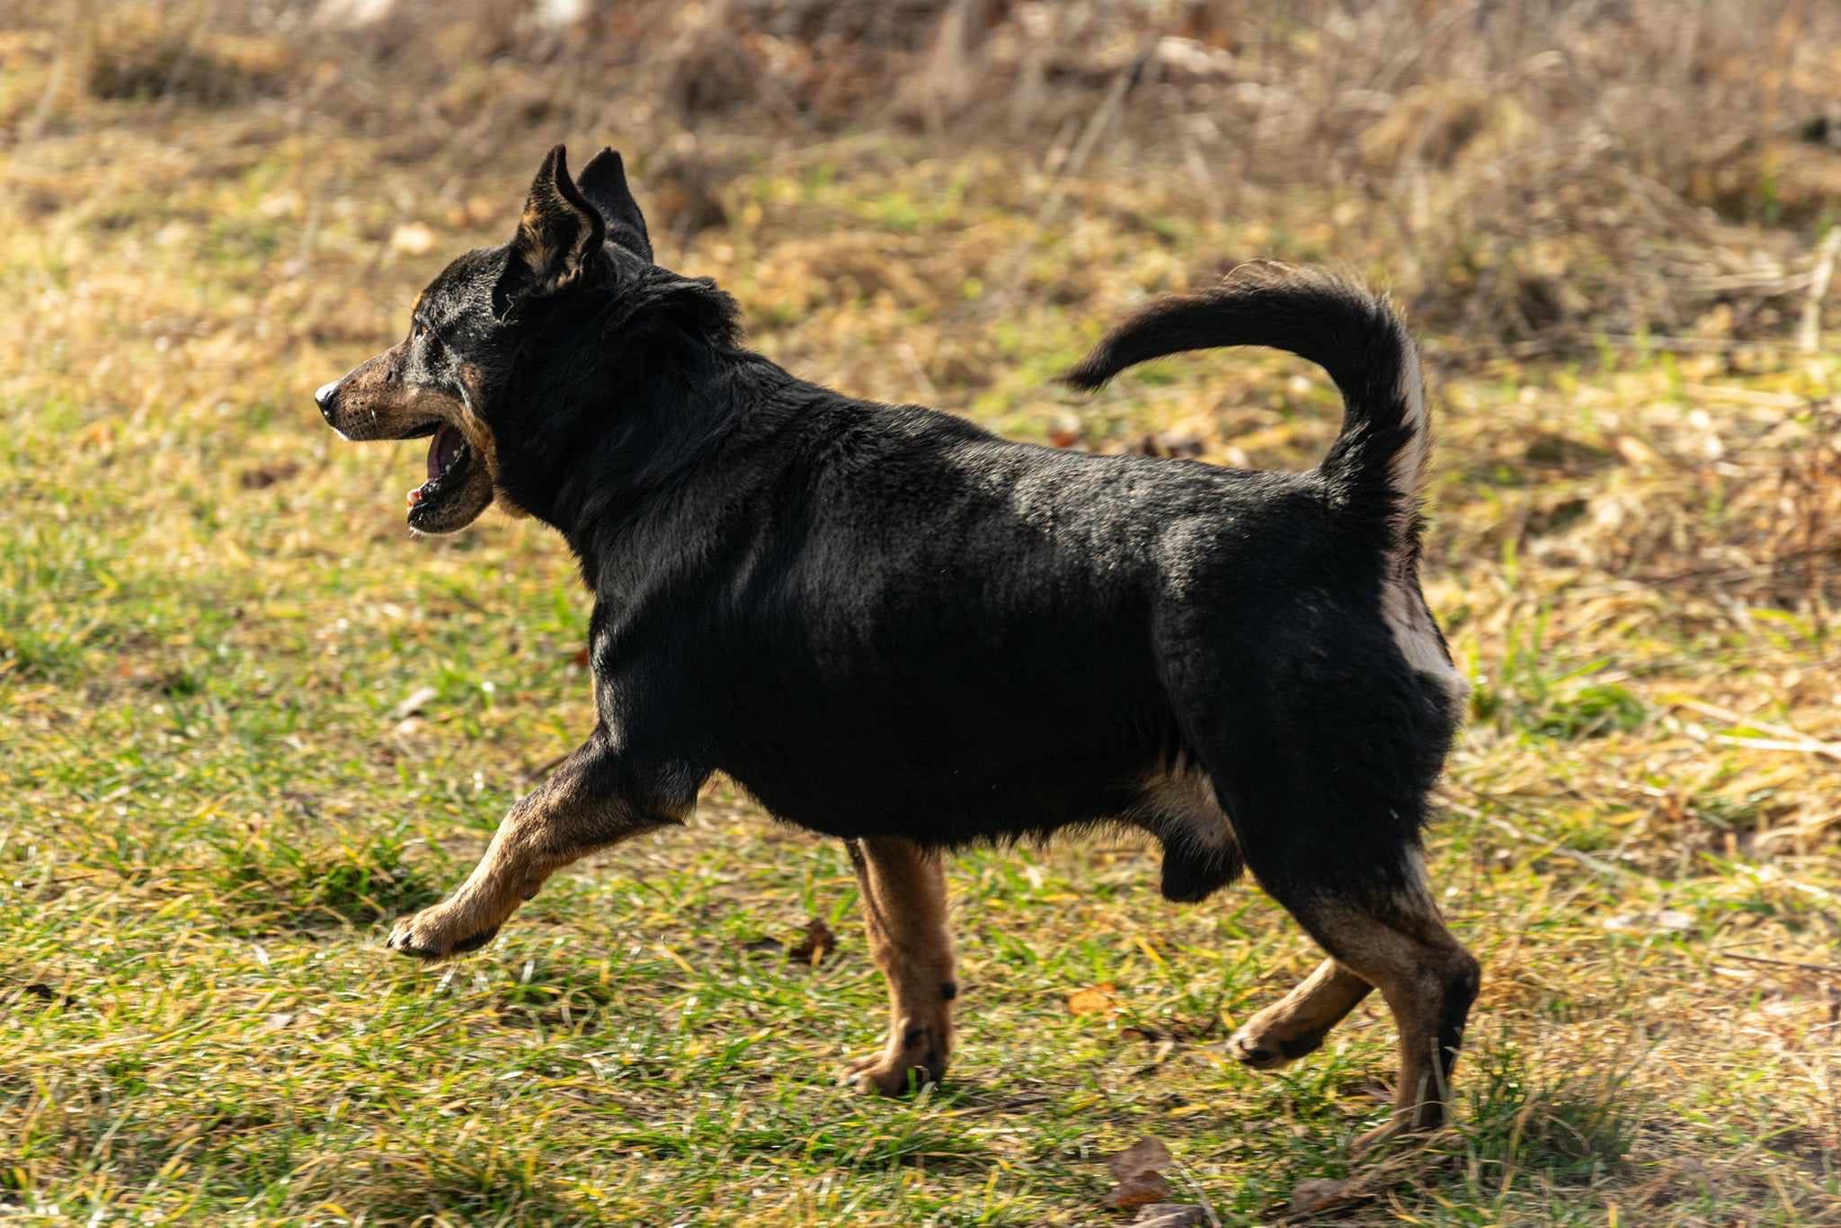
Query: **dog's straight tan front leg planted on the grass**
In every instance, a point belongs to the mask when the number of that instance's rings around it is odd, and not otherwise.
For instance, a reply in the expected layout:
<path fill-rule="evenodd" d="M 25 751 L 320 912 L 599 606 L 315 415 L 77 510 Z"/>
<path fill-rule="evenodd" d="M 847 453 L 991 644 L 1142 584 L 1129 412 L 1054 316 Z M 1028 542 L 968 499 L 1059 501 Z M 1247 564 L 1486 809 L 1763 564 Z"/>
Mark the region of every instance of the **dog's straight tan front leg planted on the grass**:
<path fill-rule="evenodd" d="M 849 1064 L 863 1092 L 898 1095 L 946 1073 L 952 1055 L 952 935 L 946 930 L 946 871 L 911 840 L 849 840 L 863 893 L 869 954 L 889 981 L 889 1042 Z"/>

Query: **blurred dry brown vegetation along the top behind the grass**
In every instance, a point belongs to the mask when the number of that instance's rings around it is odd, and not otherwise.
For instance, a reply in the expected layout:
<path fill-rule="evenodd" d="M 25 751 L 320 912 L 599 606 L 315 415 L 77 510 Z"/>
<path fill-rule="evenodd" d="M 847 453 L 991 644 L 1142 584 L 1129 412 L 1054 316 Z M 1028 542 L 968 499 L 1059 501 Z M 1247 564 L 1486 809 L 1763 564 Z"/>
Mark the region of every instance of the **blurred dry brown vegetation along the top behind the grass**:
<path fill-rule="evenodd" d="M 469 215 L 506 155 L 609 134 L 690 239 L 742 171 L 865 173 L 851 136 L 917 134 L 996 151 L 1044 223 L 1083 171 L 1167 180 L 1187 217 L 1384 269 L 1478 348 L 1782 337 L 1841 193 L 1821 0 L 9 7 L 15 151 L 151 101 L 223 162 L 363 140 L 427 171 L 423 210 Z"/>

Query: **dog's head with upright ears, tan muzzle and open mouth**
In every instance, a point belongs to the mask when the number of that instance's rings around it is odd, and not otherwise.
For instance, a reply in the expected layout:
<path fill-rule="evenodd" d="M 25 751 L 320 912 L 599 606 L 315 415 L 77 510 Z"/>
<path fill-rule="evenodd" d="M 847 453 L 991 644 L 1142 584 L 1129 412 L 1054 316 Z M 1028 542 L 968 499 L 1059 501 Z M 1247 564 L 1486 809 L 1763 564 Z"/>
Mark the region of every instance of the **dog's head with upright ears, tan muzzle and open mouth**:
<path fill-rule="evenodd" d="M 602 149 L 573 180 L 556 145 L 512 241 L 447 265 L 416 298 L 409 335 L 313 400 L 348 440 L 431 438 L 409 527 L 457 532 L 503 490 L 501 458 L 521 446 L 508 387 L 519 353 L 558 311 L 604 300 L 650 269 L 646 219 L 620 155 Z"/>

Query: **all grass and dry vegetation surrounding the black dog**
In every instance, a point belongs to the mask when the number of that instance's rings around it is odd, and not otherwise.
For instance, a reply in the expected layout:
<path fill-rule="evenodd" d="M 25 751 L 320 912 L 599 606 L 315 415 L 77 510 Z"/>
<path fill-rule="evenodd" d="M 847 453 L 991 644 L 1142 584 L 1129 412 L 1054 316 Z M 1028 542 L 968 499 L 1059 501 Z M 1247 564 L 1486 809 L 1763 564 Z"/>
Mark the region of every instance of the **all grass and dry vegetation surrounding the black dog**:
<path fill-rule="evenodd" d="M 1384 1013 L 1239 1072 L 1313 950 L 1132 840 L 954 863 L 919 1105 L 828 1086 L 882 1025 L 849 867 L 724 782 L 383 956 L 587 727 L 585 602 L 528 521 L 407 541 L 420 453 L 309 396 L 556 140 L 793 372 L 1060 447 L 1314 464 L 1291 359 L 1051 377 L 1246 258 L 1392 287 L 1486 985 L 1454 1130 L 1346 1213 L 1841 1217 L 1834 0 L 0 0 L 0 1213 L 1095 1222 L 1138 1134 L 1222 1222 L 1348 1175 Z"/>

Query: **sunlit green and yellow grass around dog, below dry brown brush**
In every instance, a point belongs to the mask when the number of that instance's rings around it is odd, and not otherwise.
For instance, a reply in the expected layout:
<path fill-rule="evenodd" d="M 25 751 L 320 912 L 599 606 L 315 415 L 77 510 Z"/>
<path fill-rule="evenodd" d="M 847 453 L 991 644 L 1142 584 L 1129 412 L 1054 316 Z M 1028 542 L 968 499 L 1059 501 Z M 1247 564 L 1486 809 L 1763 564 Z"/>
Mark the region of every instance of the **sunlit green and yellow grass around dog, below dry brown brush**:
<path fill-rule="evenodd" d="M 834 1083 L 884 1022 L 843 851 L 722 781 L 479 956 L 388 956 L 587 727 L 587 604 L 527 521 L 407 539 L 420 457 L 339 444 L 309 390 L 508 232 L 545 136 L 477 166 L 287 123 L 103 99 L 0 168 L 0 1215 L 1117 1222 L 1105 1158 L 1152 1134 L 1180 1200 L 1270 1222 L 1364 1173 L 1384 1013 L 1243 1072 L 1221 1042 L 1313 948 L 1252 887 L 1162 902 L 1130 841 L 954 862 L 963 1038 L 908 1101 Z M 793 370 L 1095 449 L 1296 468 L 1333 436 L 1270 355 L 1046 383 L 1283 219 L 1095 166 L 1044 223 L 1044 177 L 978 147 L 801 156 L 659 241 Z M 1834 1222 L 1841 363 L 1465 346 L 1429 342 L 1429 595 L 1476 687 L 1432 873 L 1486 981 L 1453 1129 L 1333 1213 Z M 841 935 L 817 968 L 762 950 L 808 917 Z"/>

